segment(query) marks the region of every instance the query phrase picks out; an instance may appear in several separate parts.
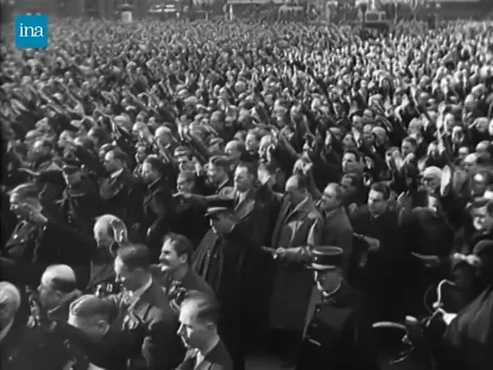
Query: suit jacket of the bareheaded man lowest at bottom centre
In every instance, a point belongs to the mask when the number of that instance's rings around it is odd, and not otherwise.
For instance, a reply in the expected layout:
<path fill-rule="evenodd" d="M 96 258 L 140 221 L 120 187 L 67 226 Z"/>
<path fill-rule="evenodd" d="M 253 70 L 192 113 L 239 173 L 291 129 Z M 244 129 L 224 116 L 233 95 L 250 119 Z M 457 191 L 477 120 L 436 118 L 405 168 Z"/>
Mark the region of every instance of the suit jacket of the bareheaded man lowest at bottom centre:
<path fill-rule="evenodd" d="M 200 364 L 196 364 L 197 354 L 196 349 L 188 350 L 184 362 L 175 370 L 233 370 L 232 357 L 223 340 L 220 340 L 213 350 L 204 356 L 204 361 Z"/>

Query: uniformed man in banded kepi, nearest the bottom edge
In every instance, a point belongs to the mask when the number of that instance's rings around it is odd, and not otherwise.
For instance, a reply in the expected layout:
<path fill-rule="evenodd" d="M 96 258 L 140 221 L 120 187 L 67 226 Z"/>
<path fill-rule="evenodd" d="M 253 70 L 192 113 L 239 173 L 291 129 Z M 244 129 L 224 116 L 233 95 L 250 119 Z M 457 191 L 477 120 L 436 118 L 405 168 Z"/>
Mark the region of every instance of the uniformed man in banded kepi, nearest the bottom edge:
<path fill-rule="evenodd" d="M 342 249 L 314 248 L 308 266 L 313 290 L 296 370 L 377 370 L 371 325 L 361 295 L 349 286 L 340 268 Z"/>

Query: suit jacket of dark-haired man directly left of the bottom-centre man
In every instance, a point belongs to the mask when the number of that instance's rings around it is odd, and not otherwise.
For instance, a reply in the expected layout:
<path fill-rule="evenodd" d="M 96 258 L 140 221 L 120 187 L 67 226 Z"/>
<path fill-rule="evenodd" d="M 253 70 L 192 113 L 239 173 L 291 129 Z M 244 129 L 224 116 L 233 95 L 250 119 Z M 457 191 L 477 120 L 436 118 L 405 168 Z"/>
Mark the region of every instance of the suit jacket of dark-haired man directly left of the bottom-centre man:
<path fill-rule="evenodd" d="M 140 353 L 128 354 L 132 370 L 166 370 L 181 362 L 185 350 L 176 335 L 178 321 L 169 307 L 165 291 L 156 281 L 133 302 L 128 291 L 112 299 L 119 306 L 119 318 L 115 324 L 120 330 L 128 331 L 137 326 L 132 316 L 147 327 Z"/>

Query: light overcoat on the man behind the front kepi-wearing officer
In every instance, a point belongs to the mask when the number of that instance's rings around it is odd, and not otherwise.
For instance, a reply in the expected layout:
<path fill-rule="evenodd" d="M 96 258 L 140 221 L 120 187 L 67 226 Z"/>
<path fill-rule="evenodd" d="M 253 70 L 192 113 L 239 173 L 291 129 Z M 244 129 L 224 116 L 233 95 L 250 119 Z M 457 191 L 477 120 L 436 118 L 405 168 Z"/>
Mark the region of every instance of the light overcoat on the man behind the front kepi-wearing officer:
<path fill-rule="evenodd" d="M 274 232 L 271 247 L 298 249 L 320 245 L 323 219 L 311 196 L 289 213 L 289 200 L 285 198 Z M 313 287 L 313 274 L 305 261 L 275 261 L 273 289 L 270 299 L 270 327 L 301 332 L 305 324 L 308 302 Z"/>

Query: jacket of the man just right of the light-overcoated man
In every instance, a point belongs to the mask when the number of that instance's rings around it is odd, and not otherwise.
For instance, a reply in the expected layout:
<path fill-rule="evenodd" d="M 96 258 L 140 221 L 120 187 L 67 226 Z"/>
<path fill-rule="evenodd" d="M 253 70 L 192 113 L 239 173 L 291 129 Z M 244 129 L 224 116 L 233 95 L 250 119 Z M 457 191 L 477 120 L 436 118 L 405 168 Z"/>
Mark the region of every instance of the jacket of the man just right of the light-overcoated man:
<path fill-rule="evenodd" d="M 353 226 L 349 222 L 346 209 L 339 207 L 329 213 L 322 213 L 324 227 L 322 230 L 322 244 L 339 247 L 343 250 L 342 269 L 347 270 L 353 252 Z"/>

